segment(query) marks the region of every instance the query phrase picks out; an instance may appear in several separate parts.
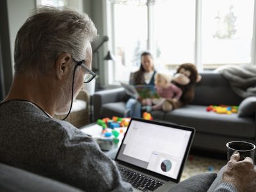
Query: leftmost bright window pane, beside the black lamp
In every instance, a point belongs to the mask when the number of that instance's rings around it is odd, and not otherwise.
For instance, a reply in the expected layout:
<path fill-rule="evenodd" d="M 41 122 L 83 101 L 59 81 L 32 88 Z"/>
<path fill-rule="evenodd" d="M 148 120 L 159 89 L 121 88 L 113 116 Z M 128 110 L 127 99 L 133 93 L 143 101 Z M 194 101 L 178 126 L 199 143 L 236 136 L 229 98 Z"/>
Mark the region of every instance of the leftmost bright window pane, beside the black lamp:
<path fill-rule="evenodd" d="M 147 49 L 147 6 L 114 4 L 114 52 L 116 79 L 129 79 L 140 66 L 141 50 Z"/>

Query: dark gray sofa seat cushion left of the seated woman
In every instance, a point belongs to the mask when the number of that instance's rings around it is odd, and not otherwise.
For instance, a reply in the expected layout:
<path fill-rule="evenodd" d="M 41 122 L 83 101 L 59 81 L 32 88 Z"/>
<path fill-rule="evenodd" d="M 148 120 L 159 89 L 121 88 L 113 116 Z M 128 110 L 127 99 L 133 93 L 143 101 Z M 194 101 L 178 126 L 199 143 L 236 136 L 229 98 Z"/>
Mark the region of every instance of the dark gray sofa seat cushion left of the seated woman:
<path fill-rule="evenodd" d="M 126 116 L 129 111 L 125 109 L 125 102 L 109 102 L 107 104 L 103 104 L 100 115 L 101 118 L 104 117 L 109 117 L 111 118 L 112 116 Z M 111 116 L 109 116 L 111 114 Z"/>

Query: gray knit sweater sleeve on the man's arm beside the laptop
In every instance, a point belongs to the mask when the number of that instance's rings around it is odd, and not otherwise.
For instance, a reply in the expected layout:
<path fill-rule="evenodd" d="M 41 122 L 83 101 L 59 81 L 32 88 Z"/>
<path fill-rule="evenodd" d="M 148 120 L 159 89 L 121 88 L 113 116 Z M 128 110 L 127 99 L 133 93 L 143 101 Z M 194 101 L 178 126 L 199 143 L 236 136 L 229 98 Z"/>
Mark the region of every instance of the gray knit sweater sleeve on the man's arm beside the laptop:
<path fill-rule="evenodd" d="M 59 180 L 84 191 L 132 191 L 114 161 L 92 138 L 73 130 L 63 141 L 56 154 Z"/>

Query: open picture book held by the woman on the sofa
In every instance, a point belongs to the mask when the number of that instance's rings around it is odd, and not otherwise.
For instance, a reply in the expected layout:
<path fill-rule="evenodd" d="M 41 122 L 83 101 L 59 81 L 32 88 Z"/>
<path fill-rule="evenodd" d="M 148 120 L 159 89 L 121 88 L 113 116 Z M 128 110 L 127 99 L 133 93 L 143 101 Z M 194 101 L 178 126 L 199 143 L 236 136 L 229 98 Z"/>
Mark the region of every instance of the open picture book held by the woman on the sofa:
<path fill-rule="evenodd" d="M 141 99 L 155 99 L 160 98 L 158 93 L 156 92 L 156 88 L 154 85 L 151 84 L 140 84 L 140 85 L 131 85 L 131 84 L 125 84 L 121 83 L 121 85 L 124 87 L 125 92 L 130 95 L 131 97 L 141 97 Z"/>

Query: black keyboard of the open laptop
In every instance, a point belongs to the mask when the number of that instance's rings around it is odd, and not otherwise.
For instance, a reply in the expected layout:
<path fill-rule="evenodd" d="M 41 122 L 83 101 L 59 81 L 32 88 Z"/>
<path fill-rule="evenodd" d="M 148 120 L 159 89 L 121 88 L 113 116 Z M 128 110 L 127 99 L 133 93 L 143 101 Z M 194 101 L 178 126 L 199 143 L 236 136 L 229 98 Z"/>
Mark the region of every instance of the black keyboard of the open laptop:
<path fill-rule="evenodd" d="M 132 184 L 132 187 L 139 189 L 141 191 L 154 191 L 164 183 L 147 177 L 145 175 L 141 175 L 140 173 L 132 172 L 131 170 L 127 170 L 124 167 L 118 166 L 118 169 L 122 175 L 122 178 Z"/>

